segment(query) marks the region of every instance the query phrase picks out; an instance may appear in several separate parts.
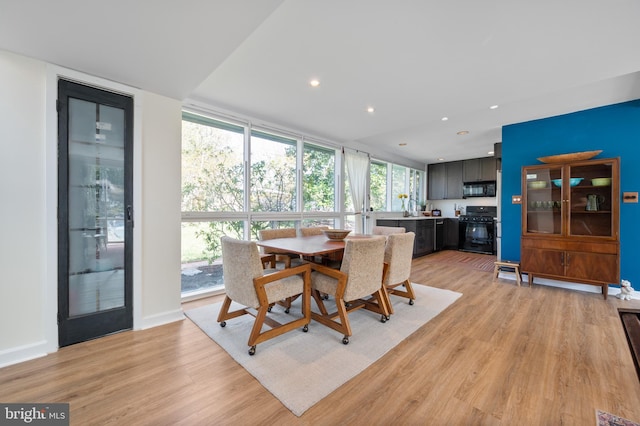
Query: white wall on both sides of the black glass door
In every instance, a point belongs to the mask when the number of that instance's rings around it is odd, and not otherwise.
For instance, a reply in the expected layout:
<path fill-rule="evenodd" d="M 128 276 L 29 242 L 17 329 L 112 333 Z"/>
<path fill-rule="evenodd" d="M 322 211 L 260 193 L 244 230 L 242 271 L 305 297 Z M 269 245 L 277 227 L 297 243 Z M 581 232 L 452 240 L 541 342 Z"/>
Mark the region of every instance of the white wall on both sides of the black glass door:
<path fill-rule="evenodd" d="M 0 367 L 57 348 L 55 144 L 47 64 L 0 51 Z M 49 71 L 50 72 L 50 71 Z M 95 77 L 69 71 L 92 84 Z M 49 80 L 48 80 L 49 79 Z M 109 82 L 101 84 L 110 86 Z M 123 86 L 113 83 L 119 91 Z M 49 84 L 50 86 L 50 84 Z M 124 90 L 125 92 L 127 90 Z M 181 102 L 131 90 L 134 112 L 134 327 L 182 319 Z M 55 98 L 54 98 L 55 99 Z M 48 117 L 48 120 L 47 120 Z M 55 121 L 55 120 L 54 120 Z M 48 159 L 49 158 L 49 159 Z M 55 156 L 53 156 L 55 159 Z"/>

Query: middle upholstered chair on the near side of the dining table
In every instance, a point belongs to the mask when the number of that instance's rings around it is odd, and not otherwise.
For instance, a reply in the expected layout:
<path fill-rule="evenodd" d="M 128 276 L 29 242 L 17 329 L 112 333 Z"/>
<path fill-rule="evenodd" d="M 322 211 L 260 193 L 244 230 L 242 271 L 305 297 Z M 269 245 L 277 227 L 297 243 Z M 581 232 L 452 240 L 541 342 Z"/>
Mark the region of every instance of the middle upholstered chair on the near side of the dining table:
<path fill-rule="evenodd" d="M 352 335 L 349 312 L 365 308 L 381 314 L 381 322 L 389 317 L 381 286 L 384 246 L 385 239 L 381 236 L 347 239 L 340 270 L 311 264 L 312 296 L 320 310 L 320 313 L 312 311 L 311 318 L 342 333 L 345 345 Z M 328 312 L 323 293 L 335 297 L 336 312 Z"/>

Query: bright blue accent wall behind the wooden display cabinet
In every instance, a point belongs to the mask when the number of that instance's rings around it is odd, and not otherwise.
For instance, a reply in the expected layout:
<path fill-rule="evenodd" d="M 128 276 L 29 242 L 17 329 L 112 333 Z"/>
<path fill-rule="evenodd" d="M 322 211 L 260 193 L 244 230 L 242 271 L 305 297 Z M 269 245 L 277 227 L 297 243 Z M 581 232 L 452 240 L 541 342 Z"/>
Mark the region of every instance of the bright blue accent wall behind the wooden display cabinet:
<path fill-rule="evenodd" d="M 640 99 L 502 128 L 502 258 L 520 260 L 522 167 L 537 158 L 601 149 L 620 158 L 620 197 L 640 192 Z M 622 200 L 621 200 L 622 201 Z M 640 288 L 640 204 L 620 204 L 620 278 Z"/>

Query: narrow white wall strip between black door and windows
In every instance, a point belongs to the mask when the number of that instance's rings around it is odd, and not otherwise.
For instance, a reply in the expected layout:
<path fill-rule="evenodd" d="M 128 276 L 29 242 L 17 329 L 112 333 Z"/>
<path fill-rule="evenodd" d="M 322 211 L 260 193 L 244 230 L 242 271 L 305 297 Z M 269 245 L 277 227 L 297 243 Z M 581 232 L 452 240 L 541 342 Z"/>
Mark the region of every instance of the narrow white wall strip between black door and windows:
<path fill-rule="evenodd" d="M 182 102 L 144 94 L 141 328 L 182 317 L 180 227 Z"/>

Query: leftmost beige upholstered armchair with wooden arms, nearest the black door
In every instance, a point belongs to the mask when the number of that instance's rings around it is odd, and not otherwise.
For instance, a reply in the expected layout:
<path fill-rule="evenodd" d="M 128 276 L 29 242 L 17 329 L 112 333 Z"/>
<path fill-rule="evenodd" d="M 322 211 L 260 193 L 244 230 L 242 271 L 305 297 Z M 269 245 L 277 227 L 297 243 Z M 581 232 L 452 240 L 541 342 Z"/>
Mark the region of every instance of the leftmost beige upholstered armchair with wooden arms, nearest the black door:
<path fill-rule="evenodd" d="M 242 241 L 222 237 L 222 272 L 226 295 L 218 322 L 221 327 L 226 321 L 241 315 L 255 317 L 249 335 L 249 355 L 256 353 L 258 343 L 279 336 L 296 327 L 307 331 L 311 319 L 311 269 L 308 264 L 278 271 L 266 271 L 262 267 L 260 252 L 255 241 Z M 281 324 L 268 316 L 271 306 L 284 299 L 302 295 L 302 318 Z M 231 302 L 243 308 L 230 311 Z M 256 310 L 257 312 L 254 312 Z M 263 325 L 270 327 L 262 331 Z"/>

